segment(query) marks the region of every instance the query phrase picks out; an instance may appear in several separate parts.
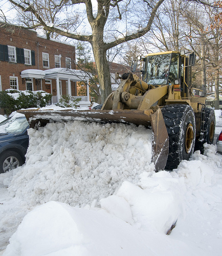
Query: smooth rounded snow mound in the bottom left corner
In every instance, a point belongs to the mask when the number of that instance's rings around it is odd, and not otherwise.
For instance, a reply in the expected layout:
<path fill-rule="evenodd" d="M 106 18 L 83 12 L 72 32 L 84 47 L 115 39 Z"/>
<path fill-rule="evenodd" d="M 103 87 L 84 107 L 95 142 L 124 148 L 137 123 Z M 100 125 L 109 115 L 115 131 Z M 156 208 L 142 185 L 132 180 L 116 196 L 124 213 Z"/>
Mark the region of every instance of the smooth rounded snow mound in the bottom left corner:
<path fill-rule="evenodd" d="M 78 231 L 70 207 L 49 202 L 24 217 L 4 255 L 46 255 L 72 245 L 75 245 L 72 253 L 78 253 L 81 242 L 82 233 Z"/>

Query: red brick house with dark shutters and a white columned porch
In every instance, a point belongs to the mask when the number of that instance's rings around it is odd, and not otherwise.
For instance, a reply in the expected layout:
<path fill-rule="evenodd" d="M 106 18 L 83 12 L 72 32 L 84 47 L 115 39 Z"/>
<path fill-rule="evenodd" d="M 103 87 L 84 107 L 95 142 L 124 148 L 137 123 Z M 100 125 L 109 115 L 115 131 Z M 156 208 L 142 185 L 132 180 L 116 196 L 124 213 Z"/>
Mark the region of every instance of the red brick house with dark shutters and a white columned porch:
<path fill-rule="evenodd" d="M 0 34 L 0 91 L 43 90 L 56 103 L 61 95 L 77 96 L 77 81 L 87 83 L 88 77 L 75 70 L 74 46 L 4 23 Z M 82 100 L 89 101 L 89 96 Z"/>

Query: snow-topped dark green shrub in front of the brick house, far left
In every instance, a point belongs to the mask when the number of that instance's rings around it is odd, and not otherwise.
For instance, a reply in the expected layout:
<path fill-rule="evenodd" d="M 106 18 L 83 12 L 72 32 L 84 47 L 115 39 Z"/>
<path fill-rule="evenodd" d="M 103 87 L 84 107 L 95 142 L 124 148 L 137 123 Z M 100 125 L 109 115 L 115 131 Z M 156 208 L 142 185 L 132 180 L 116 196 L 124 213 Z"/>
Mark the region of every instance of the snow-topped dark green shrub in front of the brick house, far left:
<path fill-rule="evenodd" d="M 44 91 L 18 91 L 7 89 L 0 92 L 0 108 L 7 115 L 13 111 L 28 108 L 42 108 L 51 100 L 52 95 Z"/>

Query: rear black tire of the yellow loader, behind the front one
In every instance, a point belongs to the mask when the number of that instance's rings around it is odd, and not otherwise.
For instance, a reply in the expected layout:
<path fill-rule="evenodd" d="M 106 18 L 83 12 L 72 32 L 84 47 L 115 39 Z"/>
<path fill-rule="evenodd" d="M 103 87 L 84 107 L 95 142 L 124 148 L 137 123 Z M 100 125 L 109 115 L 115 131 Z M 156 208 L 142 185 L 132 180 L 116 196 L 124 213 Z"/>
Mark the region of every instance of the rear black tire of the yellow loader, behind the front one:
<path fill-rule="evenodd" d="M 199 137 L 196 138 L 194 150 L 199 150 L 201 154 L 204 154 L 204 144 L 212 144 L 215 134 L 215 113 L 212 109 L 205 109 L 205 123 L 204 123 L 204 130 L 206 130 L 206 135 L 199 141 Z"/>

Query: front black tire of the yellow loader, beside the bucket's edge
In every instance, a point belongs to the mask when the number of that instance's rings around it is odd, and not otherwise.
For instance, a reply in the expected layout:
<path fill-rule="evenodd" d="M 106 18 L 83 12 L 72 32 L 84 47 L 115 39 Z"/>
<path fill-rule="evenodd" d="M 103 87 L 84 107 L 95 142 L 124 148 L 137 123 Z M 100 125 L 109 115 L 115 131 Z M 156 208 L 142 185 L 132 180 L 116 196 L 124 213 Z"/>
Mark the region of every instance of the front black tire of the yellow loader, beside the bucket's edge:
<path fill-rule="evenodd" d="M 184 104 L 163 106 L 162 114 L 169 136 L 169 154 L 165 168 L 172 170 L 193 154 L 195 116 L 191 106 Z"/>

